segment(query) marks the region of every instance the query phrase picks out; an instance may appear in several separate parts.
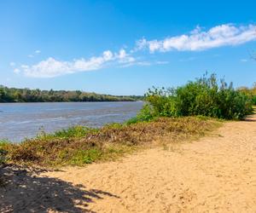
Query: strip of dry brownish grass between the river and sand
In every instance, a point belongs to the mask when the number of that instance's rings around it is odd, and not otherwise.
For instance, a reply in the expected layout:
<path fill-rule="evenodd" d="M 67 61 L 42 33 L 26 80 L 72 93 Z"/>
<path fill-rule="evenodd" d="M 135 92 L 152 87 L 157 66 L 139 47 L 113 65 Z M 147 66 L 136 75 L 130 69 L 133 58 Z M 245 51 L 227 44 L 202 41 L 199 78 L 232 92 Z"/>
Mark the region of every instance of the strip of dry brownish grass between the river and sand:
<path fill-rule="evenodd" d="M 218 122 L 205 118 L 157 118 L 137 124 L 111 124 L 81 137 L 38 137 L 7 147 L 9 162 L 56 166 L 90 164 L 115 159 L 138 147 L 166 138 L 169 142 L 195 139 L 214 129 Z"/>

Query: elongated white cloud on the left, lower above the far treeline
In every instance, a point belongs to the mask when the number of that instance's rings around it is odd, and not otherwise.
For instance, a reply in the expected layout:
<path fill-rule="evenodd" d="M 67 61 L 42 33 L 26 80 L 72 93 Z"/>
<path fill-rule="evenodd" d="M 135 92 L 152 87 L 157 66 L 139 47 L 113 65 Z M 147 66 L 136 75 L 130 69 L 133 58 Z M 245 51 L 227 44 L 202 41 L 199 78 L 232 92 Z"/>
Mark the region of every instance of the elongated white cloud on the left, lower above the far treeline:
<path fill-rule="evenodd" d="M 104 51 L 101 56 L 91 57 L 89 60 L 82 58 L 73 61 L 62 61 L 49 57 L 47 60 L 38 62 L 38 64 L 22 65 L 20 68 L 27 77 L 53 78 L 74 72 L 98 70 L 107 66 L 110 62 L 125 64 L 132 61 L 135 61 L 135 58 L 126 54 L 125 49 L 120 49 L 119 53 L 112 53 L 110 50 Z"/>

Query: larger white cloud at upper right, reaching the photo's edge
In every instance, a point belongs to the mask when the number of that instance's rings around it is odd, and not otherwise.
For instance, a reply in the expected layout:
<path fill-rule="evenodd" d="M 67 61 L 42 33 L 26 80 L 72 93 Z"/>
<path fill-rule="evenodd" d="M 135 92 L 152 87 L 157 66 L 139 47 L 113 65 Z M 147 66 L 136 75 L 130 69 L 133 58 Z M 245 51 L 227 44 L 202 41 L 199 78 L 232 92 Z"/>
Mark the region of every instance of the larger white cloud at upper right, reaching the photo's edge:
<path fill-rule="evenodd" d="M 214 26 L 207 32 L 202 32 L 201 27 L 188 35 L 166 37 L 163 40 L 150 40 L 145 38 L 137 41 L 136 49 L 149 49 L 151 53 L 156 51 L 167 52 L 198 51 L 222 46 L 234 46 L 256 40 L 256 26 L 235 26 L 232 24 Z"/>

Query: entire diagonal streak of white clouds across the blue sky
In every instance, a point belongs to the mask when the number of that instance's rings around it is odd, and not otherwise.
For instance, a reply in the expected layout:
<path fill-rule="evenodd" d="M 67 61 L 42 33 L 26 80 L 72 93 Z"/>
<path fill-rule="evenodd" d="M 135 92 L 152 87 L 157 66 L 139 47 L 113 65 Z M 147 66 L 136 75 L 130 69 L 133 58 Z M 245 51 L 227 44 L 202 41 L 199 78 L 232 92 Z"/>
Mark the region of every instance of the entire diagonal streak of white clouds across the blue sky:
<path fill-rule="evenodd" d="M 142 38 L 128 52 L 125 49 L 119 49 L 118 52 L 107 50 L 100 56 L 70 61 L 56 60 L 54 57 L 49 57 L 46 60 L 39 61 L 37 64 L 22 65 L 15 72 L 21 72 L 32 78 L 53 78 L 74 72 L 94 71 L 110 65 L 117 67 L 163 65 L 169 63 L 169 61 L 145 61 L 145 57 L 140 55 L 143 54 L 141 50 L 147 49 L 150 53 L 172 50 L 199 51 L 222 46 L 233 46 L 254 40 L 256 40 L 256 25 L 235 26 L 226 24 L 214 26 L 208 31 L 203 31 L 200 26 L 196 26 L 188 34 L 166 37 L 162 40 Z M 35 50 L 28 57 L 36 57 L 40 53 L 40 50 Z M 195 58 L 190 57 L 187 60 L 195 60 Z M 10 66 L 12 66 L 11 63 Z M 15 63 L 13 66 L 15 68 Z"/>

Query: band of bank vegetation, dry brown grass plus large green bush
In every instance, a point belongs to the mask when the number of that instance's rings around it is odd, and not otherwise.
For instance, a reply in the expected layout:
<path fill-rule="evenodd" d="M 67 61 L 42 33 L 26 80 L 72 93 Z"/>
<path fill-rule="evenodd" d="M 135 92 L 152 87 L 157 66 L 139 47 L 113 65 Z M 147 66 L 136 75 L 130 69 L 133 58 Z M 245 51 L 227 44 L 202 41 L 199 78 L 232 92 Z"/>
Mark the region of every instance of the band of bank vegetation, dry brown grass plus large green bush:
<path fill-rule="evenodd" d="M 145 98 L 148 104 L 125 124 L 42 132 L 20 144 L 2 141 L 0 164 L 61 166 L 115 159 L 165 137 L 181 141 L 205 135 L 218 124 L 209 117 L 241 119 L 253 112 L 253 96 L 223 80 L 218 84 L 215 75 L 176 89 L 149 89 Z"/>

